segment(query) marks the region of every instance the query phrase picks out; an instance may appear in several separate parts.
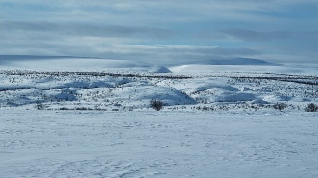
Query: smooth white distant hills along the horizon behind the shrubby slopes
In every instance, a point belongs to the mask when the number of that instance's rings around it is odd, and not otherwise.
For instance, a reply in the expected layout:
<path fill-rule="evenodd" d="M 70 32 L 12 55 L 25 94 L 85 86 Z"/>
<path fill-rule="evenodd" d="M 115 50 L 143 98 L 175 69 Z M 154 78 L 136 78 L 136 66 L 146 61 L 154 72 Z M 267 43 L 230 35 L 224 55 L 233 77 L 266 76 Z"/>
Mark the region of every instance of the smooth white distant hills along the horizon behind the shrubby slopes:
<path fill-rule="evenodd" d="M 164 67 L 170 66 L 170 67 Z M 262 72 L 280 74 L 318 74 L 318 68 L 273 64 L 259 59 L 213 59 L 171 66 L 151 63 L 71 56 L 0 55 L 1 70 L 41 71 L 132 71 L 149 73 Z"/>

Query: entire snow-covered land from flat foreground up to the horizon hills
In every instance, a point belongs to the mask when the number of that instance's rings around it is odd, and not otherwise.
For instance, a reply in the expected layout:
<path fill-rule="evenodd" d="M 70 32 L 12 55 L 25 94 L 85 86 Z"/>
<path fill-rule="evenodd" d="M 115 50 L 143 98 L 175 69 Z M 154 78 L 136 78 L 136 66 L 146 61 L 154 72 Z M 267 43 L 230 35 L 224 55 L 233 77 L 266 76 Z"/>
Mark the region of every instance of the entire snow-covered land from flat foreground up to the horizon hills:
<path fill-rule="evenodd" d="M 0 56 L 0 178 L 318 177 L 318 69 L 242 60 Z"/>

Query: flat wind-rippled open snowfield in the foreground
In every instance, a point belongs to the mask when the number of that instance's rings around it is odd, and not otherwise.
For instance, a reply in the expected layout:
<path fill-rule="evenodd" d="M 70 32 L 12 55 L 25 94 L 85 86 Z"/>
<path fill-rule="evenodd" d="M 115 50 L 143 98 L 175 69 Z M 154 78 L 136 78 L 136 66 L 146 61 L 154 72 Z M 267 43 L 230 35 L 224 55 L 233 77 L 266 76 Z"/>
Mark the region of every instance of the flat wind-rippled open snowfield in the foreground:
<path fill-rule="evenodd" d="M 315 115 L 0 111 L 0 178 L 318 177 Z"/>

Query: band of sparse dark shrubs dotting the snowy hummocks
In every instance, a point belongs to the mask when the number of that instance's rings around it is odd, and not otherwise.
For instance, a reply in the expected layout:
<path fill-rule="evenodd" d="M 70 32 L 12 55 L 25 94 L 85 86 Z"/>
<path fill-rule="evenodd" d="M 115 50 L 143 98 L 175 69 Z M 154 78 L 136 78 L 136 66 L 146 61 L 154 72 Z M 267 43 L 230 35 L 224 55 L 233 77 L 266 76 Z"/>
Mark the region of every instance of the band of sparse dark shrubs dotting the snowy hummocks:
<path fill-rule="evenodd" d="M 302 101 L 318 101 L 317 76 L 284 75 L 270 73 L 240 73 L 220 72 L 213 75 L 206 73 L 198 76 L 178 74 L 150 74 L 131 72 L 36 72 L 2 70 L 0 77 L 5 85 L 0 87 L 0 107 L 18 107 L 33 104 L 36 109 L 47 109 L 40 103 L 60 106 L 58 110 L 101 110 L 101 111 L 134 111 L 135 109 L 153 108 L 159 111 L 163 108 L 162 99 L 171 99 L 173 106 L 167 107 L 171 111 L 222 111 L 238 110 L 242 112 L 259 112 L 262 109 L 283 111 L 302 110 L 317 112 L 315 104 L 310 106 L 294 105 L 289 99 L 297 97 Z M 201 87 L 193 85 L 191 78 L 213 78 L 216 81 L 226 81 L 223 86 Z M 28 84 L 26 84 L 28 83 Z M 30 85 L 34 83 L 34 85 Z M 48 84 L 49 83 L 49 84 Z M 102 85 L 97 85 L 97 84 Z M 200 82 L 199 82 L 200 83 Z M 201 84 L 209 84 L 208 81 Z M 176 86 L 189 89 L 179 89 Z M 284 85 L 284 87 L 281 87 Z M 147 86 L 147 87 L 143 87 Z M 192 87 L 192 88 L 191 88 Z M 158 88 L 158 90 L 157 90 Z M 144 96 L 151 96 L 149 99 Z M 157 95 L 158 93 L 158 95 Z M 127 95 L 126 95 L 127 94 Z M 286 103 L 262 104 L 246 99 L 245 95 L 270 97 L 270 102 L 286 100 Z M 230 96 L 230 97 L 228 97 Z M 243 96 L 243 97 L 242 97 Z M 225 97 L 225 98 L 222 98 Z M 228 97 L 228 98 L 226 98 Z M 272 97 L 272 98 L 271 98 Z M 277 98 L 275 98 L 277 97 Z M 279 98 L 281 97 L 281 98 Z M 252 98 L 252 97 L 251 97 Z M 170 102 L 170 101 L 169 101 Z M 77 107 L 70 107 L 77 105 Z M 180 105 L 180 106 L 178 106 Z M 63 107 L 62 107 L 63 106 Z M 54 107 L 50 107 L 54 109 Z M 263 110 L 264 111 L 264 110 Z"/>

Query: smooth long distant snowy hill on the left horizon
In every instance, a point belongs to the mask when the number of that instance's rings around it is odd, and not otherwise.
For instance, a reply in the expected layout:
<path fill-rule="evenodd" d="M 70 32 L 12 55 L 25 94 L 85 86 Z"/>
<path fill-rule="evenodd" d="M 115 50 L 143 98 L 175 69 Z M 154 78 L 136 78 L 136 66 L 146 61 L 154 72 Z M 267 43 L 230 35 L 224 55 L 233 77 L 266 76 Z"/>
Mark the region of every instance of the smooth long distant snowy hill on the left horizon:
<path fill-rule="evenodd" d="M 133 70 L 153 73 L 171 72 L 163 66 L 155 66 L 145 62 L 70 56 L 0 55 L 0 67 L 1 69 L 20 70 Z"/>

